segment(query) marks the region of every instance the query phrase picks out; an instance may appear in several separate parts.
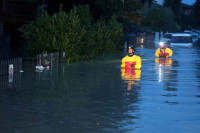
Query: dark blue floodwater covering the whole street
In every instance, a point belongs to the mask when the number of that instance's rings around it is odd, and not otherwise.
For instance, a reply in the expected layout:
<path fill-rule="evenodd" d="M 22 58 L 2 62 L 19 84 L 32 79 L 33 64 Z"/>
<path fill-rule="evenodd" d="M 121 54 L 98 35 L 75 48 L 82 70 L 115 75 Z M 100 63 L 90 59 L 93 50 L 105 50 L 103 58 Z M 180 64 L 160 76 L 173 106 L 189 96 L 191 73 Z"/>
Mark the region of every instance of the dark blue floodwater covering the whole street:
<path fill-rule="evenodd" d="M 199 133 L 200 48 L 136 49 L 142 69 L 120 68 L 125 52 L 35 72 L 0 89 L 1 133 Z M 11 85 L 12 86 L 12 85 Z"/>

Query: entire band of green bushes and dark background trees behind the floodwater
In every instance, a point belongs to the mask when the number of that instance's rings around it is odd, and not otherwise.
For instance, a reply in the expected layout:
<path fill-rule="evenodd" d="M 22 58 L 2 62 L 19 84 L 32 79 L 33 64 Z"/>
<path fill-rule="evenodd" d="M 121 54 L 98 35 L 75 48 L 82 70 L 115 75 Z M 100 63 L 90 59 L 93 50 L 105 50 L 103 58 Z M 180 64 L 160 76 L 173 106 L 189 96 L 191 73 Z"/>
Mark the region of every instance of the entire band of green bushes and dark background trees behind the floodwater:
<path fill-rule="evenodd" d="M 119 50 L 124 33 L 144 27 L 169 32 L 200 28 L 200 0 L 189 15 L 181 12 L 181 0 L 165 0 L 163 6 L 154 2 L 46 0 L 41 16 L 20 28 L 27 43 L 26 53 L 62 50 L 68 61 L 88 59 Z"/>

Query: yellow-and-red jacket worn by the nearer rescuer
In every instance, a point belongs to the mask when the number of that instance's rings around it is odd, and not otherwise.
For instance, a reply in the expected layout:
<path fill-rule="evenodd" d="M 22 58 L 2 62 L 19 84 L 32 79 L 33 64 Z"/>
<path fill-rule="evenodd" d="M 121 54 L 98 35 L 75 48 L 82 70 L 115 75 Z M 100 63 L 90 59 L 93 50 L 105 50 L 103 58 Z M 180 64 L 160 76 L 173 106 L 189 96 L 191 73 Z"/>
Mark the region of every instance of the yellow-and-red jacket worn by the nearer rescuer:
<path fill-rule="evenodd" d="M 128 55 L 122 58 L 121 61 L 121 67 L 122 68 L 135 68 L 140 69 L 142 66 L 142 60 L 140 56 L 133 55 L 132 57 L 129 57 Z"/>

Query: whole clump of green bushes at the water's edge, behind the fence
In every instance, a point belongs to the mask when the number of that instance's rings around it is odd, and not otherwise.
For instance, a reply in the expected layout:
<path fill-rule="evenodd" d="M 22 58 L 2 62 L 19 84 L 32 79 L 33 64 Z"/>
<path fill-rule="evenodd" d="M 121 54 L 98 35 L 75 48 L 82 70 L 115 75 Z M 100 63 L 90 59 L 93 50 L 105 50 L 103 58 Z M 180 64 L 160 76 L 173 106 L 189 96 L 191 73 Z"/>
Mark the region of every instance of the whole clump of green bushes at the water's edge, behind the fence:
<path fill-rule="evenodd" d="M 60 7 L 20 28 L 26 40 L 26 53 L 36 55 L 43 51 L 65 51 L 67 61 L 90 59 L 122 48 L 123 25 L 113 15 L 105 21 L 93 20 L 87 5 L 75 6 L 70 12 Z"/>

